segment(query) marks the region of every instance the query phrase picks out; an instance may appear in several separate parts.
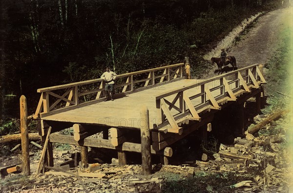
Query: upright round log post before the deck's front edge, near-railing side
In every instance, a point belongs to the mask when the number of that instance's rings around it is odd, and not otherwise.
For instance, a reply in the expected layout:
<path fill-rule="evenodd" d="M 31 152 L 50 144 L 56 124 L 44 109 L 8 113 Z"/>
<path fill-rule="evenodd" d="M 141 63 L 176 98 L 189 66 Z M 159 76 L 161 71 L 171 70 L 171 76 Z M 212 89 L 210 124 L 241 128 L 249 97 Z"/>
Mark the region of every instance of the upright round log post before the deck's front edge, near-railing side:
<path fill-rule="evenodd" d="M 141 130 L 141 146 L 142 146 L 142 168 L 143 174 L 151 174 L 151 153 L 150 153 L 150 132 L 148 109 L 142 106 L 140 109 L 140 130 Z"/>

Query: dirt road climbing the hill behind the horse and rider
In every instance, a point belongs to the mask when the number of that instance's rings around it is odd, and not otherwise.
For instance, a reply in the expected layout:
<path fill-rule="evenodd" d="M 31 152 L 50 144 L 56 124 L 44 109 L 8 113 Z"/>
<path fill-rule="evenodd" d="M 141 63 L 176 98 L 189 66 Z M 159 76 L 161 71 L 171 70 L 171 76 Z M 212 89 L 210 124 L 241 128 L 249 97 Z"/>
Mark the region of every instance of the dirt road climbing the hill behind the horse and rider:
<path fill-rule="evenodd" d="M 249 32 L 241 37 L 241 41 L 227 51 L 227 55 L 235 56 L 238 68 L 267 63 L 278 47 L 281 32 L 292 26 L 292 13 L 291 7 L 278 9 L 259 17 Z M 216 69 L 217 66 L 214 64 L 209 77 L 216 75 L 214 73 Z"/>

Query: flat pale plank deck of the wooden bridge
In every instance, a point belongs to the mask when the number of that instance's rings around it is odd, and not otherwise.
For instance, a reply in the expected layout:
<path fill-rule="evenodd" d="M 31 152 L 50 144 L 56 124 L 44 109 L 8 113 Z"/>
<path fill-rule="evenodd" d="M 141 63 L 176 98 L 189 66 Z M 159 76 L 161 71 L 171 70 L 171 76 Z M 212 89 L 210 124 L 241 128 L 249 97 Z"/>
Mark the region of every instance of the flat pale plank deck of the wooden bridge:
<path fill-rule="evenodd" d="M 146 105 L 149 109 L 150 129 L 153 129 L 153 124 L 158 124 L 156 109 L 156 95 L 166 93 L 174 88 L 184 88 L 196 83 L 200 83 L 204 80 L 198 79 L 184 79 L 177 82 L 169 83 L 163 86 L 149 88 L 140 92 L 126 95 L 122 98 L 117 98 L 114 101 L 100 102 L 97 104 L 89 105 L 86 107 L 79 107 L 73 110 L 57 113 L 43 117 L 43 120 L 72 122 L 72 123 L 87 123 L 97 124 L 103 126 L 111 126 L 115 128 L 140 128 L 140 125 L 144 124 L 144 120 L 141 120 L 139 115 L 139 109 L 142 105 Z M 210 89 L 218 85 L 218 81 L 213 81 L 206 84 Z M 192 96 L 200 93 L 200 86 L 186 90 L 188 96 Z M 167 96 L 166 99 L 172 101 L 176 94 Z M 220 95 L 220 90 L 212 91 L 214 97 Z M 192 105 L 198 105 L 201 100 L 192 100 Z M 178 106 L 179 101 L 175 103 Z M 171 109 L 172 114 L 176 113 L 175 109 Z"/>

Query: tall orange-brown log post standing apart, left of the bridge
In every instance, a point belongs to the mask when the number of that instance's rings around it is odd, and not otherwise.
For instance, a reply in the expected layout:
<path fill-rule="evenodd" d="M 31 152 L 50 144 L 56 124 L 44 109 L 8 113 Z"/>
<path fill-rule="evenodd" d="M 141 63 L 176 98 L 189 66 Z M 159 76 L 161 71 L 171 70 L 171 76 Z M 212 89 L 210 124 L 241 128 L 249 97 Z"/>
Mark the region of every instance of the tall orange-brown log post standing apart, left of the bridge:
<path fill-rule="evenodd" d="M 22 174 L 30 175 L 29 166 L 29 142 L 28 142 L 28 129 L 27 129 L 27 105 L 26 98 L 21 95 L 20 98 L 21 109 L 21 150 L 22 150 Z"/>

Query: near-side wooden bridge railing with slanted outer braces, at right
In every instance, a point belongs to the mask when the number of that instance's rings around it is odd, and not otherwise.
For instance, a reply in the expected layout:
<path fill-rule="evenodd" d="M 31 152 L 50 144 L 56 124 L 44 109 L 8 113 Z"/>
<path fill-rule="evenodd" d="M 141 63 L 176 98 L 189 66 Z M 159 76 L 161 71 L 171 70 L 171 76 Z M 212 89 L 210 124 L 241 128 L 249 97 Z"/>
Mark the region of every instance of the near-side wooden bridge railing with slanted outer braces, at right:
<path fill-rule="evenodd" d="M 221 109 L 221 100 L 235 101 L 240 92 L 251 92 L 266 83 L 258 64 L 234 70 L 202 82 L 162 93 L 156 96 L 157 128 L 162 131 L 181 133 L 178 121 L 190 114 L 188 119 L 200 121 L 199 112 L 204 109 Z M 197 88 L 193 94 L 187 91 Z M 194 90 L 193 90 L 194 91 Z M 164 127 L 170 125 L 171 127 Z"/>

